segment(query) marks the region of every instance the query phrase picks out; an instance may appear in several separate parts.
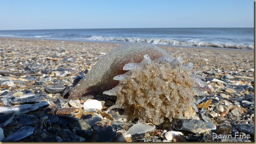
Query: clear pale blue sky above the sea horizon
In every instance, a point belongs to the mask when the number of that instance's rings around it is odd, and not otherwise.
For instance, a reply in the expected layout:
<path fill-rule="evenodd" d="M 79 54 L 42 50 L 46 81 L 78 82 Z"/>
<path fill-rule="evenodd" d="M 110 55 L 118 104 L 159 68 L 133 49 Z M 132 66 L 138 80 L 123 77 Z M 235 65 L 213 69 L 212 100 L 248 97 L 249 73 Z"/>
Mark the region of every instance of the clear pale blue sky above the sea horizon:
<path fill-rule="evenodd" d="M 252 0 L 0 0 L 0 30 L 253 27 Z"/>

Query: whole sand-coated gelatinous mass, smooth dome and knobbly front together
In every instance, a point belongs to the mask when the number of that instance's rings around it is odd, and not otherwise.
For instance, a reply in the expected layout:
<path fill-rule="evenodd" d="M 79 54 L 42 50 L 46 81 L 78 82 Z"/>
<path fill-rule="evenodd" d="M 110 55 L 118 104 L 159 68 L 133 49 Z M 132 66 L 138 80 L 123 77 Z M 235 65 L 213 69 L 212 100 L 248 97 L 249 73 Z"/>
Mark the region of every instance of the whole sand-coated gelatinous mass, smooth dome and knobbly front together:
<path fill-rule="evenodd" d="M 115 107 L 128 119 L 158 125 L 167 117 L 195 116 L 195 95 L 207 87 L 192 73 L 193 63 L 183 64 L 149 43 L 121 45 L 109 51 L 70 92 L 69 99 L 87 95 L 117 96 Z M 194 109 L 193 109 L 194 108 Z"/>

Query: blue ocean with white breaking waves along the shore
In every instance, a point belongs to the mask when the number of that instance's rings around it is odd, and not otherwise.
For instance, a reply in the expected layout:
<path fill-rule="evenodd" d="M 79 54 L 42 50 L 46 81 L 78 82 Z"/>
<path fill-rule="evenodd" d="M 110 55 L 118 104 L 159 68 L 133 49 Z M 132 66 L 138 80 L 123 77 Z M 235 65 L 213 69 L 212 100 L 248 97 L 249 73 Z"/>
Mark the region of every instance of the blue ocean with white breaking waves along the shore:
<path fill-rule="evenodd" d="M 254 28 L 2 30 L 0 37 L 254 49 Z"/>

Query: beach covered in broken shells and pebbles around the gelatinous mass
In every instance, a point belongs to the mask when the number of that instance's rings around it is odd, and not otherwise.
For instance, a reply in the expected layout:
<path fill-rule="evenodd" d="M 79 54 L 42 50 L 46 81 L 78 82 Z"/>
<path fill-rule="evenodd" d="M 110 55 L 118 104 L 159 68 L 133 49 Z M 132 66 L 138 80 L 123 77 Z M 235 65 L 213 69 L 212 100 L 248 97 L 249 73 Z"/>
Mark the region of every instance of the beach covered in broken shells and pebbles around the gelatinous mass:
<path fill-rule="evenodd" d="M 0 141 L 254 141 L 253 50 L 157 45 L 192 62 L 211 91 L 194 96 L 191 119 L 128 121 L 122 109 L 109 109 L 116 97 L 67 99 L 98 59 L 122 44 L 0 38 Z M 88 99 L 100 102 L 94 112 L 85 110 Z"/>

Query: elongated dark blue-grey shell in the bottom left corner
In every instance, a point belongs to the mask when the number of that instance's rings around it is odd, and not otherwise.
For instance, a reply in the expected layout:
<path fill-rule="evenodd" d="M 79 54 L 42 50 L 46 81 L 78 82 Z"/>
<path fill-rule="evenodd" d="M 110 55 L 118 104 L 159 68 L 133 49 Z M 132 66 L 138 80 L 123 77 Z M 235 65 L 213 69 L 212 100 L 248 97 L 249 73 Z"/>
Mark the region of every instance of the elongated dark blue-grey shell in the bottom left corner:
<path fill-rule="evenodd" d="M 3 139 L 3 142 L 18 141 L 32 134 L 33 131 L 34 131 L 34 128 L 32 126 L 23 126 L 16 132 L 12 133 L 11 135 L 8 135 L 5 139 Z"/>

